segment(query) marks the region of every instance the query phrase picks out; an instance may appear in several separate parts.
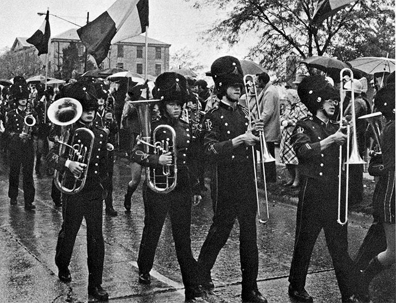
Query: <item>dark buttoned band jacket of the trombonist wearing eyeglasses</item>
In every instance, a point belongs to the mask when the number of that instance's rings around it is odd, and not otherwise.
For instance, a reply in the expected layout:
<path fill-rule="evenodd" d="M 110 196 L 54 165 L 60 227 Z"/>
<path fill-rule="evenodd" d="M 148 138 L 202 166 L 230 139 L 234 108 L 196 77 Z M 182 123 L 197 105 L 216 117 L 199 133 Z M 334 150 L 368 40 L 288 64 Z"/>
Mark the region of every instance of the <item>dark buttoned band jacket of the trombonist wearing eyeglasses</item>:
<path fill-rule="evenodd" d="M 327 123 L 318 117 L 306 117 L 297 122 L 291 143 L 298 158 L 301 174 L 323 181 L 335 182 L 339 175 L 339 146 L 332 145 L 321 151 L 320 141 L 334 134 L 339 124 Z"/>

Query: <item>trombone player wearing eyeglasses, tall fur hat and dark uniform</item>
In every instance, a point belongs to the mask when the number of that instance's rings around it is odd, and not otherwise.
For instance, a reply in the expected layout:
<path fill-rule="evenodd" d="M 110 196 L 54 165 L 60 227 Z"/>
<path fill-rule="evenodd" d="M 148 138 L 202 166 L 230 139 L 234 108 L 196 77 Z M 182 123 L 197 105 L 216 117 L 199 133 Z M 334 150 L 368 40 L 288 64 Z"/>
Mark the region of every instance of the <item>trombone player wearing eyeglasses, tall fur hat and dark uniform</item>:
<path fill-rule="evenodd" d="M 358 302 L 354 298 L 357 273 L 348 255 L 347 225 L 337 222 L 339 146 L 346 142 L 346 127 L 331 120 L 339 105 L 339 93 L 321 75 L 303 79 L 297 92 L 312 117 L 299 120 L 291 137 L 301 181 L 288 293 L 299 302 L 313 302 L 305 290 L 305 280 L 316 239 L 324 229 L 342 302 Z"/>

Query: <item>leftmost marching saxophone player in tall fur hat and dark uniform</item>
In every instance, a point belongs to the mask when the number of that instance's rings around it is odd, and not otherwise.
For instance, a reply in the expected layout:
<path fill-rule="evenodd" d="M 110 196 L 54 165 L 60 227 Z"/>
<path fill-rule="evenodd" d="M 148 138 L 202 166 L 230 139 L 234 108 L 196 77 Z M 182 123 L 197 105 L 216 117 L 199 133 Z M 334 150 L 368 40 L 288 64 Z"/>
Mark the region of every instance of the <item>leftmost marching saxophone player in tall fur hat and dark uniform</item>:
<path fill-rule="evenodd" d="M 10 204 L 16 205 L 19 171 L 22 166 L 25 208 L 34 209 L 36 206 L 33 205 L 35 196 L 33 135 L 36 134 L 36 126 L 27 127 L 24 119 L 27 115 L 33 115 L 37 121 L 37 114 L 31 109 L 32 104 L 28 103 L 29 91 L 23 77 L 18 76 L 18 81 L 10 87 L 10 94 L 17 107 L 7 113 L 5 121 L 5 131 L 10 137 L 8 197 Z"/>

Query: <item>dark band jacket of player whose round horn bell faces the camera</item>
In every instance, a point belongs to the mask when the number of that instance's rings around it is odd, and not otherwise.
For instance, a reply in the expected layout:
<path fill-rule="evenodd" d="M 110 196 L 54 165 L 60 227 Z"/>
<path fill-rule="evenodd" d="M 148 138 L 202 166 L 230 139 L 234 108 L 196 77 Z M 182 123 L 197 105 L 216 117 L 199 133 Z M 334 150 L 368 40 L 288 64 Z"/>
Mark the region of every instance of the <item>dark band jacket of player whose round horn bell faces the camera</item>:
<path fill-rule="evenodd" d="M 80 122 L 76 122 L 73 124 L 68 144 L 71 144 L 71 138 L 73 136 L 73 133 L 79 127 L 85 127 L 85 125 Z M 92 198 L 92 200 L 94 200 L 102 196 L 102 183 L 106 179 L 108 174 L 108 153 L 106 150 L 107 134 L 104 130 L 97 126 L 93 126 L 90 129 L 95 135 L 95 140 L 92 148 L 91 160 L 88 165 L 87 180 L 82 191 L 73 196 L 79 195 L 87 197 L 89 199 Z M 68 159 L 68 149 L 66 149 L 65 153 L 62 155 L 58 155 L 58 151 L 59 145 L 55 144 L 47 156 L 47 161 L 49 161 L 51 165 L 55 167 L 55 169 L 57 169 L 58 171 L 64 172 L 66 169 L 68 169 L 64 166 L 66 160 Z M 67 175 L 70 176 L 70 178 L 66 180 L 66 186 L 70 187 L 70 182 L 74 182 L 74 178 L 71 176 L 71 173 Z"/>

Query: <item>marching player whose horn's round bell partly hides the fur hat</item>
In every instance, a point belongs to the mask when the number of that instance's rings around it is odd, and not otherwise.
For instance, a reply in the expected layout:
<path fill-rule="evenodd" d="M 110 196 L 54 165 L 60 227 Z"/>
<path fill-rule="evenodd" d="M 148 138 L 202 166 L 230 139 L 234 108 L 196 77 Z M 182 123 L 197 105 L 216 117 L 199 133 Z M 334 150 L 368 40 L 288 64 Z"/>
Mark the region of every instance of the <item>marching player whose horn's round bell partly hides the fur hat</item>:
<path fill-rule="evenodd" d="M 88 89 L 87 89 L 88 88 Z M 91 89 L 91 91 L 90 91 Z M 102 212 L 103 212 L 103 185 L 107 177 L 107 134 L 94 123 L 97 110 L 97 100 L 94 88 L 84 86 L 76 82 L 64 88 L 62 97 L 76 99 L 82 104 L 83 112 L 79 120 L 73 124 L 70 132 L 71 142 L 74 131 L 77 128 L 88 128 L 94 135 L 94 143 L 91 160 L 88 163 L 88 173 L 84 188 L 76 194 L 63 193 L 63 224 L 58 235 L 55 263 L 58 267 L 58 277 L 62 282 L 70 282 L 71 275 L 68 269 L 71 254 L 77 232 L 80 229 L 82 219 L 87 224 L 87 253 L 88 253 L 88 295 L 98 300 L 108 300 L 108 293 L 102 288 L 103 262 L 105 256 L 105 245 L 102 234 Z M 68 151 L 58 155 L 59 146 L 56 144 L 47 156 L 58 171 L 69 170 L 71 174 L 77 175 L 86 169 L 87 164 L 68 159 Z M 66 177 L 66 185 L 74 182 L 74 177 Z"/>

